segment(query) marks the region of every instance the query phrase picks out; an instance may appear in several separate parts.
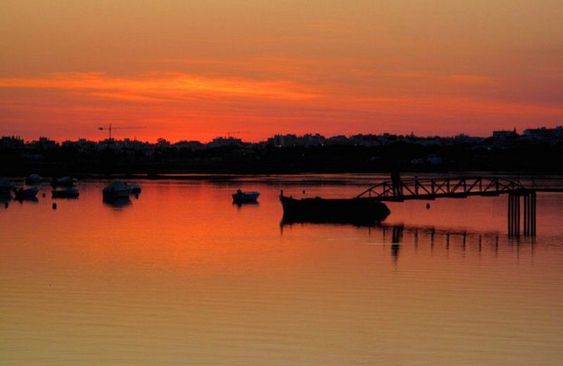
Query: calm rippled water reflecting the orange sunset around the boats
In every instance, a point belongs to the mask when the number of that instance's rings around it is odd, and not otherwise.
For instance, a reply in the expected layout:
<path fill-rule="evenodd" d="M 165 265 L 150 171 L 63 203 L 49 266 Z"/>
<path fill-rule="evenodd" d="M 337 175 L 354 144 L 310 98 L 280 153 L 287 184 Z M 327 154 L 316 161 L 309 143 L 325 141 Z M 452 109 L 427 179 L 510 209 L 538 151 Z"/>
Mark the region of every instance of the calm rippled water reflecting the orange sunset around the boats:
<path fill-rule="evenodd" d="M 353 196 L 374 179 L 308 178 L 140 181 L 120 207 L 106 182 L 57 210 L 50 194 L 12 201 L 0 364 L 561 364 L 563 194 L 538 194 L 533 241 L 505 235 L 505 196 L 281 227 L 280 188 Z M 260 204 L 233 205 L 239 187 Z"/>

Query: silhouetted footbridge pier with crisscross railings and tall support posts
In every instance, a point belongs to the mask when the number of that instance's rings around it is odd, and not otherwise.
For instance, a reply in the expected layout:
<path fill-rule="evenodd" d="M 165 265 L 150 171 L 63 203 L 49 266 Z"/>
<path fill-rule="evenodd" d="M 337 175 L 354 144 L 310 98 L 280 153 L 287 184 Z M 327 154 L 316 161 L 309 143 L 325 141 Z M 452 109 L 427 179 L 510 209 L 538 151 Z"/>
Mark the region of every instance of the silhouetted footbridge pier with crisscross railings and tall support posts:
<path fill-rule="evenodd" d="M 524 186 L 502 177 L 445 177 L 436 179 L 396 179 L 369 187 L 355 198 L 374 201 L 404 202 L 469 196 L 507 194 L 507 229 L 509 236 L 536 236 L 536 193 L 563 192 L 563 187 Z M 520 220 L 522 217 L 522 220 Z M 522 224 L 522 225 L 520 225 Z"/>

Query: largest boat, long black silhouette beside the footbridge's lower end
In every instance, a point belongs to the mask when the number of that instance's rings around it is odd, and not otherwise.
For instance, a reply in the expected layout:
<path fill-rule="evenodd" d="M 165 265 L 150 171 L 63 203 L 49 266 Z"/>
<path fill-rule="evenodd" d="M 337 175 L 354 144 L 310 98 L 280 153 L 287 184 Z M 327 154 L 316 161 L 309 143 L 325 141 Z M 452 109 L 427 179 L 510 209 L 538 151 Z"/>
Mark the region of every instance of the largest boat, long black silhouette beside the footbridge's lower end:
<path fill-rule="evenodd" d="M 369 225 L 385 220 L 391 210 L 385 203 L 373 198 L 301 198 L 284 196 L 279 201 L 284 208 L 285 223 L 291 222 L 337 222 Z"/>

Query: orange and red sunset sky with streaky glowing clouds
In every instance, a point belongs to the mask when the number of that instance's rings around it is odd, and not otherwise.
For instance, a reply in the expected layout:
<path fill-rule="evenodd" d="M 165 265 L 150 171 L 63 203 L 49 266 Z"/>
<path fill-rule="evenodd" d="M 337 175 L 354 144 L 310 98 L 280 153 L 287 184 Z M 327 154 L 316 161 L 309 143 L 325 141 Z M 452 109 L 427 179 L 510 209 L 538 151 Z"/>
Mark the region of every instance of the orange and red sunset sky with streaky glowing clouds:
<path fill-rule="evenodd" d="M 0 0 L 0 134 L 563 125 L 561 0 Z"/>

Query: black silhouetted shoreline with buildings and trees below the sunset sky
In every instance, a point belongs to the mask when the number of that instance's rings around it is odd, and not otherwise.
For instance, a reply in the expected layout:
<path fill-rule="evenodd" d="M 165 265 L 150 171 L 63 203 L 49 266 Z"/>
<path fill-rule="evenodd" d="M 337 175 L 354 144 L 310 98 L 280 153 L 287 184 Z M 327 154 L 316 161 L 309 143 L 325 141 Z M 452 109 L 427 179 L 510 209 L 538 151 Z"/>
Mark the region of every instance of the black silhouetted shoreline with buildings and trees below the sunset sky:
<path fill-rule="evenodd" d="M 234 137 L 155 144 L 137 140 L 0 139 L 1 174 L 148 175 L 175 173 L 503 171 L 562 172 L 563 127 L 495 131 L 490 137 L 358 134 Z"/>

